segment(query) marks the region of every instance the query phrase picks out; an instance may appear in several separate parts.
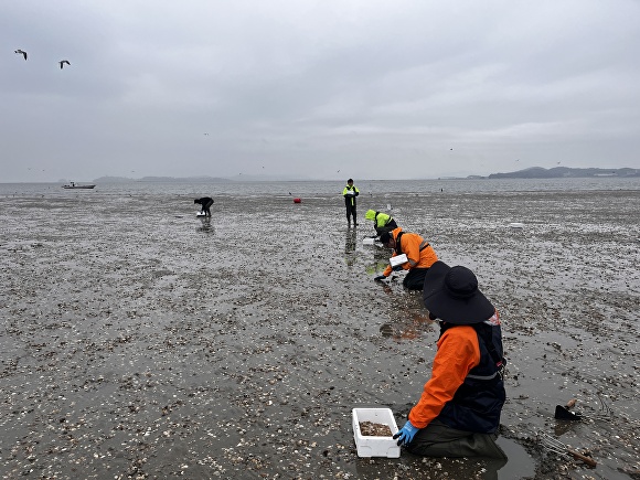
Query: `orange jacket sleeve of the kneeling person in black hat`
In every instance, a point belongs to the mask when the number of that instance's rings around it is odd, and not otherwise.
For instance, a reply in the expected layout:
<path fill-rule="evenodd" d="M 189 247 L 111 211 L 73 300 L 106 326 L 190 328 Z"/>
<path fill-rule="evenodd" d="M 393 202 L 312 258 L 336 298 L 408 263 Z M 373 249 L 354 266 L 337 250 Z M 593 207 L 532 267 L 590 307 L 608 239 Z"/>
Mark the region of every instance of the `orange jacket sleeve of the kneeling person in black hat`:
<path fill-rule="evenodd" d="M 425 384 L 419 402 L 409 412 L 409 420 L 417 428 L 425 428 L 440 414 L 469 371 L 480 364 L 480 344 L 473 327 L 448 329 L 437 345 L 431 377 Z"/>

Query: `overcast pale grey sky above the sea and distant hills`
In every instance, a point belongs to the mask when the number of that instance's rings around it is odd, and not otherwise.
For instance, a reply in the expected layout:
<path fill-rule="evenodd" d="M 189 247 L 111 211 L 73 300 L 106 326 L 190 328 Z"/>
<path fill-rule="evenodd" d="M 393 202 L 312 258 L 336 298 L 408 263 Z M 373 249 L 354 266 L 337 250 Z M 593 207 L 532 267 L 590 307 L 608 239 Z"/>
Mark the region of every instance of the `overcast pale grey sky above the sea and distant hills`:
<path fill-rule="evenodd" d="M 6 0 L 0 40 L 0 182 L 640 168 L 639 0 Z"/>

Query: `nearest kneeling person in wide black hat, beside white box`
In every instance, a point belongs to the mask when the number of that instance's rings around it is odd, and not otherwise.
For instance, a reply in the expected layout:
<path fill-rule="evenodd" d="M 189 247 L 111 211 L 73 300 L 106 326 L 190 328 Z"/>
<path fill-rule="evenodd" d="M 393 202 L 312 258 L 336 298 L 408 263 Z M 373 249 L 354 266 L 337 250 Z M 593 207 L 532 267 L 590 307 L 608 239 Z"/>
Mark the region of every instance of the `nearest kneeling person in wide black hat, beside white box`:
<path fill-rule="evenodd" d="M 394 438 L 426 457 L 506 459 L 495 444 L 506 396 L 498 310 L 470 269 L 444 262 L 427 271 L 423 299 L 440 337 L 431 377 Z"/>

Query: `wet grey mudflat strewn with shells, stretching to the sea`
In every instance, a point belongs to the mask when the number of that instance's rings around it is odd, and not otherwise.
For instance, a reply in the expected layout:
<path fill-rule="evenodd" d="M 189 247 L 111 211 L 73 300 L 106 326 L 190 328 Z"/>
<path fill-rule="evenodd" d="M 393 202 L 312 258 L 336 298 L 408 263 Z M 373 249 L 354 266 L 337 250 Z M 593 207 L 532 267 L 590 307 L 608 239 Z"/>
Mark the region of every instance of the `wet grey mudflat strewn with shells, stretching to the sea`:
<path fill-rule="evenodd" d="M 211 193 L 0 198 L 1 478 L 638 478 L 639 191 L 362 194 L 350 230 L 338 195 Z M 438 334 L 373 281 L 388 203 L 501 312 L 505 465 L 356 456 L 351 409 L 403 425 Z"/>

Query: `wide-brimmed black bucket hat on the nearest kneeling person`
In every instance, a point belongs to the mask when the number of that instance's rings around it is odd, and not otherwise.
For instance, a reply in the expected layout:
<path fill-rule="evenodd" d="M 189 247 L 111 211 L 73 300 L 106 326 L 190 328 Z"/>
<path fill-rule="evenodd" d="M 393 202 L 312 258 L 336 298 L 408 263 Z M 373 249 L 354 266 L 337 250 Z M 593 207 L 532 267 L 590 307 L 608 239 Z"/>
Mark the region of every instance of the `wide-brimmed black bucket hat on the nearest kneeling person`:
<path fill-rule="evenodd" d="M 468 326 L 493 316 L 495 309 L 478 290 L 478 279 L 467 267 L 436 262 L 427 270 L 423 290 L 425 307 L 441 321 Z"/>

